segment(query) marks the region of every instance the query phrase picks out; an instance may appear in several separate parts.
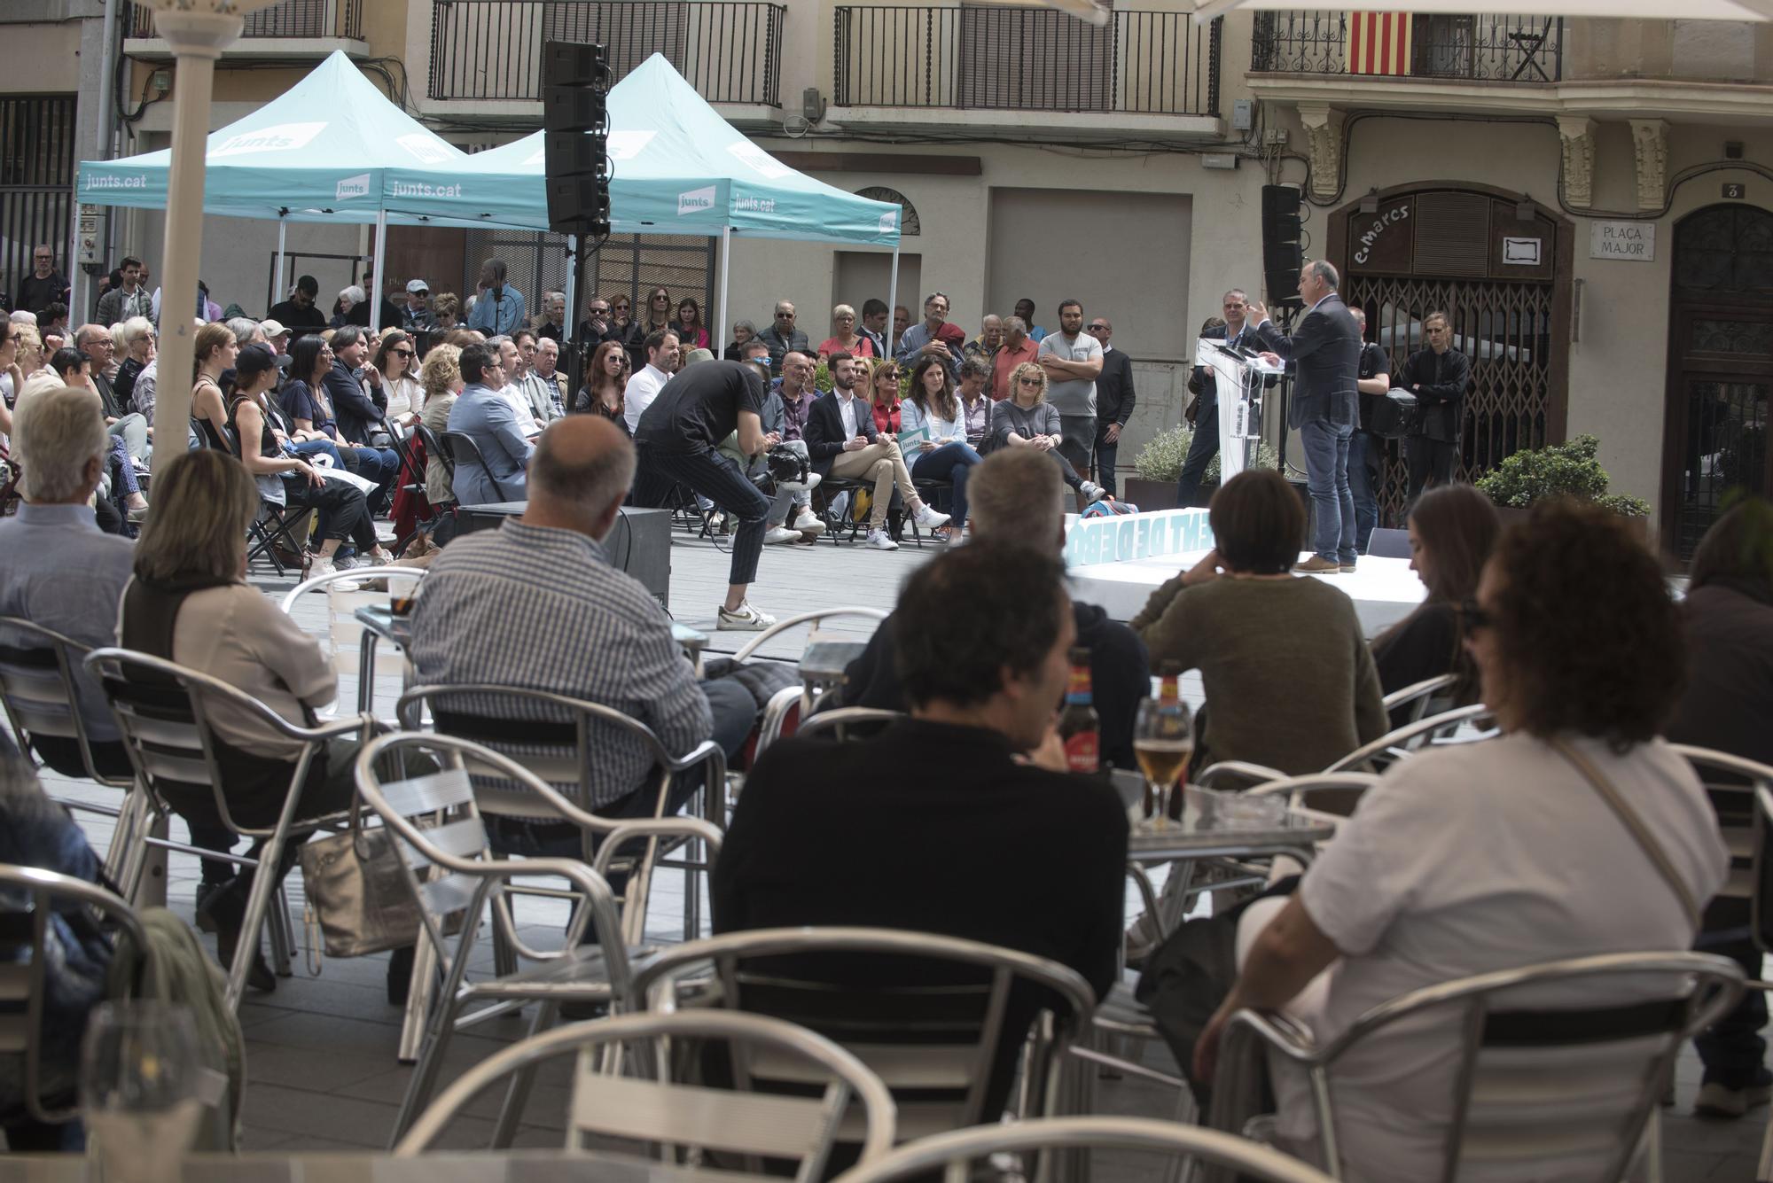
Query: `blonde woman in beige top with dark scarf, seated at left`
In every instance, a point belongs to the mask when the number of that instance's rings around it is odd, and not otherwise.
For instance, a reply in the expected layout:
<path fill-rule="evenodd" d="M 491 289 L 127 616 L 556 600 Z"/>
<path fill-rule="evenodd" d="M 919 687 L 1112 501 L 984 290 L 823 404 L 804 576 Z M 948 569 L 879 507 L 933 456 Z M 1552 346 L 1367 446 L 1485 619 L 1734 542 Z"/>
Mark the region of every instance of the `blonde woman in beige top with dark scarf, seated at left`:
<path fill-rule="evenodd" d="M 135 547 L 135 577 L 122 593 L 117 643 L 220 678 L 305 726 L 314 710 L 333 701 L 339 678 L 319 643 L 246 583 L 246 526 L 259 515 L 252 476 L 225 452 L 184 452 L 156 466 L 154 505 Z M 229 703 L 206 703 L 206 714 L 216 735 L 229 813 L 241 825 L 275 825 L 301 744 L 268 731 L 255 715 Z M 355 740 L 332 740 L 314 758 L 298 818 L 351 806 L 356 747 Z M 172 785 L 167 804 L 193 827 L 220 825 L 209 785 Z M 261 847 L 254 841 L 248 855 L 257 857 Z M 296 864 L 300 850 L 300 841 L 284 848 L 271 868 L 278 880 Z M 199 912 L 199 921 L 216 924 L 223 965 L 232 965 L 255 873 L 243 870 L 204 900 Z M 246 981 L 255 990 L 277 988 L 257 951 Z"/>

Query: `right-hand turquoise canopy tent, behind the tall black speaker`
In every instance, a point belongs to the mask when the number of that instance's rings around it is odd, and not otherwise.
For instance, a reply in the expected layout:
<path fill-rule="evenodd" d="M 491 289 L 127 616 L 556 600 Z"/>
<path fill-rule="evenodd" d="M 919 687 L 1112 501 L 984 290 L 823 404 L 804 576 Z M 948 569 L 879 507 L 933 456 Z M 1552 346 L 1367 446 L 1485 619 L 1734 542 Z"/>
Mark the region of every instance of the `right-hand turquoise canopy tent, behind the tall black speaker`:
<path fill-rule="evenodd" d="M 608 97 L 610 228 L 613 234 L 706 234 L 722 239 L 725 324 L 732 234 L 853 243 L 894 251 L 899 205 L 846 193 L 794 172 L 720 117 L 663 55 L 654 53 Z M 548 228 L 543 133 L 443 161 L 388 170 L 388 216 L 459 227 Z M 567 292 L 569 306 L 576 296 Z"/>

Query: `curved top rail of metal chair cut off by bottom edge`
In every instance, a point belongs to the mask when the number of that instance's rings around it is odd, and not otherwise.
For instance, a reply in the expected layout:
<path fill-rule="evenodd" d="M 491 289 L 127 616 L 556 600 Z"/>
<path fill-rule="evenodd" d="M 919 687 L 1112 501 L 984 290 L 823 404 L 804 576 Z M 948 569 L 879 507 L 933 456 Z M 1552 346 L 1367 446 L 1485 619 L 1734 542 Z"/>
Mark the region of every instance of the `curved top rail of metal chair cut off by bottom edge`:
<path fill-rule="evenodd" d="M 1330 1183 L 1330 1176 L 1317 1167 L 1248 1139 L 1149 1117 L 1043 1117 L 936 1133 L 908 1142 L 885 1158 L 856 1164 L 837 1176 L 837 1183 L 901 1183 L 929 1176 L 938 1167 L 949 1171 L 947 1178 L 965 1179 L 966 1164 L 980 1158 L 1082 1148 L 1154 1151 L 1172 1164 L 1200 1160 L 1236 1171 L 1252 1183 Z M 1021 1174 L 1037 1178 L 1039 1172 L 1025 1167 Z"/>

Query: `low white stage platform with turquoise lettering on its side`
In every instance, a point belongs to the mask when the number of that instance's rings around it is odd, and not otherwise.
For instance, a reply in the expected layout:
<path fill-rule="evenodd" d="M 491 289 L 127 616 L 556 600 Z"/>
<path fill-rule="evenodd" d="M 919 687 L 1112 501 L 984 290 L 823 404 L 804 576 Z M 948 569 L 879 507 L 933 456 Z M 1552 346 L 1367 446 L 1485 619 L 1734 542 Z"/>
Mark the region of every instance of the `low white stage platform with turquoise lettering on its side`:
<path fill-rule="evenodd" d="M 1136 616 L 1152 592 L 1211 549 L 1206 510 L 1067 519 L 1066 565 L 1073 595 L 1099 604 L 1113 620 Z M 1323 579 L 1346 592 L 1369 638 L 1408 616 L 1425 595 L 1422 581 L 1410 570 L 1410 560 L 1402 558 L 1363 554 L 1347 576 L 1301 579 Z"/>

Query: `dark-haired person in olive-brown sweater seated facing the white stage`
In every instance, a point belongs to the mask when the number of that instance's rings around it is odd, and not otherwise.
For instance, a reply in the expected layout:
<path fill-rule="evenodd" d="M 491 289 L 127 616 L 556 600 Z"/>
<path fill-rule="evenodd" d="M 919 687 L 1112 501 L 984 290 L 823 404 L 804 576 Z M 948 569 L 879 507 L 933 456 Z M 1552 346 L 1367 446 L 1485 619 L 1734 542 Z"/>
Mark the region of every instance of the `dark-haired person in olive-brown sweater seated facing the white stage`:
<path fill-rule="evenodd" d="M 1248 760 L 1298 776 L 1385 735 L 1379 673 L 1355 602 L 1293 574 L 1305 506 L 1285 478 L 1238 473 L 1213 494 L 1209 521 L 1218 549 L 1152 592 L 1131 620 L 1152 669 L 1177 661 L 1200 671 L 1207 705 L 1195 767 Z"/>

